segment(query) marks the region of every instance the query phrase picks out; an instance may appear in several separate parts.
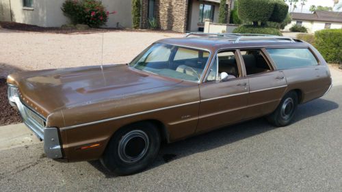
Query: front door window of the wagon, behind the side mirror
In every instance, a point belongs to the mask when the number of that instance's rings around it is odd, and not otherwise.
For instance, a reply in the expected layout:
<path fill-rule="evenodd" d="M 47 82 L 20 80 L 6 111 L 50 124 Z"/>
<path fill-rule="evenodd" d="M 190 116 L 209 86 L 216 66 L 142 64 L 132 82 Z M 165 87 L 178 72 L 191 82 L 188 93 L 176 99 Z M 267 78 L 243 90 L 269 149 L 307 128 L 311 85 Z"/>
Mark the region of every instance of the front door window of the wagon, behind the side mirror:
<path fill-rule="evenodd" d="M 213 66 L 208 75 L 208 81 L 220 80 L 220 74 L 226 72 L 229 76 L 228 79 L 235 79 L 241 77 L 235 51 L 220 51 L 215 58 Z"/>

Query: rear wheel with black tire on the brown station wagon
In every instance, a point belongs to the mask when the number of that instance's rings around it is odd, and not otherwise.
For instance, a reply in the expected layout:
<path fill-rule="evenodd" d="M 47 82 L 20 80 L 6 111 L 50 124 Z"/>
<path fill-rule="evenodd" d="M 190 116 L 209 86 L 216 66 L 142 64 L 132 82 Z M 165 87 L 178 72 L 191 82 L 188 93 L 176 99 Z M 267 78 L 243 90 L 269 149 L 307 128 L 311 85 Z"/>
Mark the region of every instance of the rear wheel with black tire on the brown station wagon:
<path fill-rule="evenodd" d="M 287 126 L 291 123 L 295 109 L 298 107 L 296 92 L 288 92 L 280 101 L 276 110 L 267 116 L 268 122 L 274 126 Z"/>

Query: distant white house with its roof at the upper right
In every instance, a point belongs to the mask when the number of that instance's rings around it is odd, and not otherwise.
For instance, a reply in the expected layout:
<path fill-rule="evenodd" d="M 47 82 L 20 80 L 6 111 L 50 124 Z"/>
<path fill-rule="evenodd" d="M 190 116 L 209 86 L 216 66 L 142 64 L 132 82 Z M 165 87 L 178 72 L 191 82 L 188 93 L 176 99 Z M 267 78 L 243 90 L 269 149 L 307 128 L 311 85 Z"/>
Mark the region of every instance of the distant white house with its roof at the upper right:
<path fill-rule="evenodd" d="M 293 25 L 304 26 L 313 33 L 321 29 L 342 29 L 342 12 L 316 11 L 313 14 L 291 13 L 292 22 L 285 27 L 285 31 Z"/>

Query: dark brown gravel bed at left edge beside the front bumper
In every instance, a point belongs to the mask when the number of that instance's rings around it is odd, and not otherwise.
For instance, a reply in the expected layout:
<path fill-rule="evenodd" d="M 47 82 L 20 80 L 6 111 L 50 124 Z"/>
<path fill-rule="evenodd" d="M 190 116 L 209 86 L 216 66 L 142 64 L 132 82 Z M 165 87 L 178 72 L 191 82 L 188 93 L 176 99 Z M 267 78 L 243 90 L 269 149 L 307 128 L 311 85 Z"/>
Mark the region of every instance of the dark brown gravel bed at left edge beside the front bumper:
<path fill-rule="evenodd" d="M 7 84 L 0 79 L 0 126 L 22 122 L 18 111 L 14 109 L 7 98 Z"/>

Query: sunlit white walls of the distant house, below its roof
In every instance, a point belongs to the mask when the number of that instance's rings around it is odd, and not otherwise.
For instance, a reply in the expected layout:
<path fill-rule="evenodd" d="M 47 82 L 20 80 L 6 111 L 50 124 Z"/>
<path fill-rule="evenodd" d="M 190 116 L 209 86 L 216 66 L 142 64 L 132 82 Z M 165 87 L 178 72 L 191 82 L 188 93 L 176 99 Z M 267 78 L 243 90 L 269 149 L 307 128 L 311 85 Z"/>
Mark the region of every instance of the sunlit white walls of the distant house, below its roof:
<path fill-rule="evenodd" d="M 292 22 L 287 25 L 284 31 L 289 31 L 289 29 L 295 25 L 297 20 L 292 20 Z M 319 31 L 324 29 L 326 23 L 331 23 L 330 29 L 342 29 L 342 23 L 333 23 L 333 22 L 324 22 L 324 21 L 309 21 L 309 20 L 302 20 L 302 26 L 308 29 L 309 33 L 314 33 L 315 31 Z"/>

